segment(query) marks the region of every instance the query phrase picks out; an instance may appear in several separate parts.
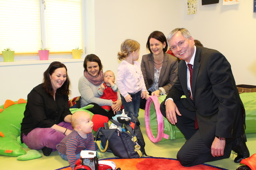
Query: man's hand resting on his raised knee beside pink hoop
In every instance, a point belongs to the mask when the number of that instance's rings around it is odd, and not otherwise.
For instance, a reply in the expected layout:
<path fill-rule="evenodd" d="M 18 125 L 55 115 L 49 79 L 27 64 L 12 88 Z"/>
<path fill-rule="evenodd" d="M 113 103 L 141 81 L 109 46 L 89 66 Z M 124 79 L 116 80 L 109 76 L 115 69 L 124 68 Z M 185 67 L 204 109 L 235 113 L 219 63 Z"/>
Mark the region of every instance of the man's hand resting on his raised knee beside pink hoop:
<path fill-rule="evenodd" d="M 166 118 L 172 125 L 175 125 L 177 123 L 177 115 L 181 116 L 180 111 L 178 110 L 178 107 L 172 100 L 167 100 L 165 104 L 166 109 Z"/>

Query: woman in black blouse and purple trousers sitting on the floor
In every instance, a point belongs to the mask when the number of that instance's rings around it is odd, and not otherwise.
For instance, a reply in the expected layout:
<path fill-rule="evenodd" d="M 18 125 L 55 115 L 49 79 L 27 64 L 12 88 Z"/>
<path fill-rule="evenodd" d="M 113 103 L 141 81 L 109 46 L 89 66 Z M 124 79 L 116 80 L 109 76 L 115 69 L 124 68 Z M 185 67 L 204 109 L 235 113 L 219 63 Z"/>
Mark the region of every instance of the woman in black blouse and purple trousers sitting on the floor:
<path fill-rule="evenodd" d="M 21 123 L 21 141 L 30 149 L 42 149 L 45 156 L 72 132 L 68 106 L 69 79 L 64 64 L 54 61 L 44 72 L 44 80 L 28 94 Z"/>

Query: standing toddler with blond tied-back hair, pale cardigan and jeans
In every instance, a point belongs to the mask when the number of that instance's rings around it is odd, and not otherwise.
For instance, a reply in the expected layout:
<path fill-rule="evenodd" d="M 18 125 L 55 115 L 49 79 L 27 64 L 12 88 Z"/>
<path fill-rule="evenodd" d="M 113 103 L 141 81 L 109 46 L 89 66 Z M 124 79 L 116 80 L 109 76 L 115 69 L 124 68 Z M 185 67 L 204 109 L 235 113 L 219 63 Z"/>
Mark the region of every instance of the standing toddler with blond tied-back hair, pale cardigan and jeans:
<path fill-rule="evenodd" d="M 132 39 L 126 39 L 121 44 L 118 59 L 122 61 L 118 66 L 116 85 L 121 94 L 124 111 L 128 111 L 128 117 L 138 117 L 140 98 L 146 98 L 146 86 L 137 62 L 140 54 L 140 44 Z"/>

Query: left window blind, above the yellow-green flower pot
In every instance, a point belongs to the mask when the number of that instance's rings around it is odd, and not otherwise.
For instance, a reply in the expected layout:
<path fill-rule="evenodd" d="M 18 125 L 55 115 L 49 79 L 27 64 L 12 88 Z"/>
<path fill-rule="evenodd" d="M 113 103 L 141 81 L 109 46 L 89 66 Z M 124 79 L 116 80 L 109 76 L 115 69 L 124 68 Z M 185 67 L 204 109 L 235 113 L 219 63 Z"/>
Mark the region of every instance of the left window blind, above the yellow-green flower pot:
<path fill-rule="evenodd" d="M 0 52 L 37 53 L 41 47 L 38 0 L 0 0 Z"/>

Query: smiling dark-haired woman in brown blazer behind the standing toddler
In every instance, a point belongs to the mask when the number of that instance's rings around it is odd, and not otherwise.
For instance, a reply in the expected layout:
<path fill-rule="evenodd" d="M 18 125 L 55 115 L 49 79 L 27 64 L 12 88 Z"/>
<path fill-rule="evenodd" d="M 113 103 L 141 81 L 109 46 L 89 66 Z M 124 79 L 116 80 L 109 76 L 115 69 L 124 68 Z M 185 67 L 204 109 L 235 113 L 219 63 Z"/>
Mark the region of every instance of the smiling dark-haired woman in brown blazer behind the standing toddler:
<path fill-rule="evenodd" d="M 177 80 L 178 59 L 168 53 L 166 37 L 160 31 L 152 32 L 147 41 L 149 54 L 142 56 L 141 70 L 149 95 L 167 95 Z M 146 100 L 141 100 L 144 109 Z"/>

